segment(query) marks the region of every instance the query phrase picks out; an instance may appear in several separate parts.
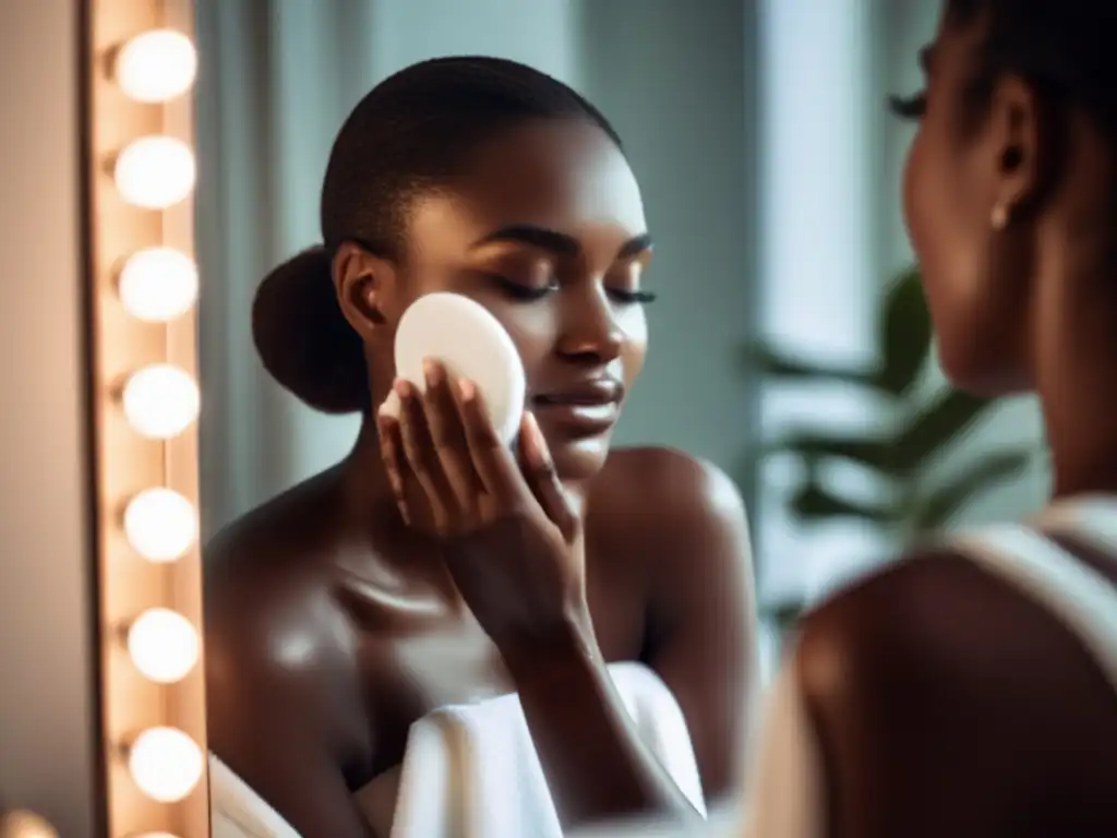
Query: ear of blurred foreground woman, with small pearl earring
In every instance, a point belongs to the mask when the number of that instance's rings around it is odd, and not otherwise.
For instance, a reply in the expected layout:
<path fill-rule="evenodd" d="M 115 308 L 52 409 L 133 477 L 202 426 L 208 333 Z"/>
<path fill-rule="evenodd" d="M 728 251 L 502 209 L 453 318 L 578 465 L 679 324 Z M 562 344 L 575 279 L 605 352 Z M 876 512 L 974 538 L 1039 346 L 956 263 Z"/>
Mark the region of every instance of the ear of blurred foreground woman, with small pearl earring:
<path fill-rule="evenodd" d="M 993 154 L 992 213 L 1003 222 L 1034 209 L 1052 160 L 1052 126 L 1035 88 L 1018 76 L 1005 76 L 990 102 L 989 137 Z"/>

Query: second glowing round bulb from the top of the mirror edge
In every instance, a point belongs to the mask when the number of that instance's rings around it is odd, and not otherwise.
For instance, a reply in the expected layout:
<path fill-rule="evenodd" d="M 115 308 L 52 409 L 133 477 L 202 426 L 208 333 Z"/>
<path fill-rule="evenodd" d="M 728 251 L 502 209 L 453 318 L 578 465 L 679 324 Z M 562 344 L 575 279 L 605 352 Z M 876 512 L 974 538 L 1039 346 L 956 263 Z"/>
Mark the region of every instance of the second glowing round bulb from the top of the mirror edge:
<path fill-rule="evenodd" d="M 142 136 L 121 152 L 113 177 L 127 203 L 166 209 L 194 188 L 194 153 L 173 136 Z"/>

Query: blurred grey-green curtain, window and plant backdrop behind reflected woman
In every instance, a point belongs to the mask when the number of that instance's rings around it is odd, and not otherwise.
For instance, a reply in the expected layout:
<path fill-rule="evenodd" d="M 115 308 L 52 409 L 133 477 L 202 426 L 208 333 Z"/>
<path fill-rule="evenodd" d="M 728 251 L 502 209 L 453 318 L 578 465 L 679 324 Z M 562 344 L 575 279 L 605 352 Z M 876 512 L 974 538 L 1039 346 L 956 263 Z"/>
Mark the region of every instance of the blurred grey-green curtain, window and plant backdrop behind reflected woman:
<path fill-rule="evenodd" d="M 620 444 L 734 475 L 768 657 L 779 625 L 926 532 L 1037 508 L 1030 399 L 951 392 L 900 215 L 910 94 L 938 3 L 198 0 L 202 502 L 208 534 L 344 456 L 356 418 L 262 371 L 259 279 L 319 239 L 331 142 L 421 59 L 531 64 L 624 139 L 657 240 L 651 352 Z"/>

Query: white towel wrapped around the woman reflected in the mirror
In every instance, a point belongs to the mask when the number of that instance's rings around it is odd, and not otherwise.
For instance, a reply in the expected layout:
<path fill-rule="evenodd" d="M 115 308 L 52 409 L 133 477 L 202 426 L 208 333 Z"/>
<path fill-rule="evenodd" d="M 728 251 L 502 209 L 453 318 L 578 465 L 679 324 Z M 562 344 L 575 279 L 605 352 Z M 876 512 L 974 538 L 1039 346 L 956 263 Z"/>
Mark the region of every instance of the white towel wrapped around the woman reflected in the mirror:
<path fill-rule="evenodd" d="M 609 667 L 648 750 L 705 816 L 686 720 L 659 677 L 639 664 Z M 212 838 L 299 838 L 239 777 L 210 756 Z M 403 763 L 357 792 L 390 838 L 562 838 L 519 698 L 442 707 L 416 722 Z"/>

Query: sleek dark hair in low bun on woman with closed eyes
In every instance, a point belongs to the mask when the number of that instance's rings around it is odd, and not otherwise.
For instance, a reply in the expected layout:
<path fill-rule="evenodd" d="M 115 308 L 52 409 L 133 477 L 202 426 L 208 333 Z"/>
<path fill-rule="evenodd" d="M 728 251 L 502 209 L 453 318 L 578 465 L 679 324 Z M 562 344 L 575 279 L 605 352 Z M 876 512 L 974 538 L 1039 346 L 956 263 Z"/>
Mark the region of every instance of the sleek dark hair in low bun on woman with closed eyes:
<path fill-rule="evenodd" d="M 417 196 L 447 187 L 483 140 L 534 118 L 583 118 L 618 146 L 609 122 L 561 82 L 515 61 L 436 58 L 374 87 L 334 141 L 322 187 L 324 245 L 273 270 L 252 305 L 252 339 L 267 371 L 313 408 L 372 408 L 364 347 L 342 315 L 333 255 L 345 241 L 402 254 Z"/>

